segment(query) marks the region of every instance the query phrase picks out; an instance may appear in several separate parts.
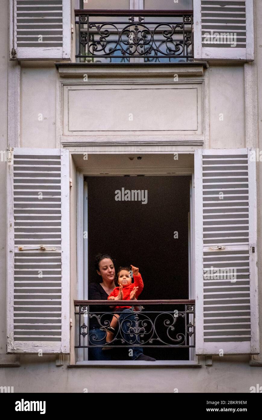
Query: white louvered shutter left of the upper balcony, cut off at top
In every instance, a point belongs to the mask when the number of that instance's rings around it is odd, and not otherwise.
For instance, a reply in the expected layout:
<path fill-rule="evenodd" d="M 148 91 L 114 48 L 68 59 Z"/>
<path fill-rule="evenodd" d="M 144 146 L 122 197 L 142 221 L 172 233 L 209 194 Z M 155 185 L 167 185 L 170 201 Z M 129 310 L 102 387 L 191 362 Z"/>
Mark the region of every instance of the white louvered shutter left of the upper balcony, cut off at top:
<path fill-rule="evenodd" d="M 11 0 L 10 58 L 70 59 L 70 0 Z"/>

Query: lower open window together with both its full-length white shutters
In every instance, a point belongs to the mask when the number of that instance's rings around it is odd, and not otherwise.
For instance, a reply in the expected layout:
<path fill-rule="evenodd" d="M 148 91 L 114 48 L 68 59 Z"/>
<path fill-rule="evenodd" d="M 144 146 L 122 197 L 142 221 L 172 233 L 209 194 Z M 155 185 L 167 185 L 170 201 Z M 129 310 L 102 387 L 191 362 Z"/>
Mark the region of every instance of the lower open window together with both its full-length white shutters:
<path fill-rule="evenodd" d="M 8 151 L 8 352 L 69 352 L 69 261 L 77 246 L 75 304 L 80 312 L 76 317 L 84 315 L 88 278 L 91 281 L 95 275 L 93 256 L 99 251 L 115 252 L 119 265 L 130 264 L 131 257 L 140 259 L 136 263 L 143 269 L 143 299 L 184 299 L 184 309 L 177 309 L 185 312 L 188 339 L 184 349 L 172 342 L 172 360 L 194 360 L 195 354 L 222 351 L 259 353 L 254 150 L 196 149 L 195 154 L 179 153 L 178 160 L 166 153 L 91 153 L 88 160 L 83 160 L 83 154 L 73 155 L 73 160 L 79 168 L 78 189 L 72 196 L 78 191 L 78 208 L 71 203 L 71 221 L 75 208 L 78 238 L 72 234 L 70 243 L 69 231 L 74 228 L 69 218 L 68 151 Z M 74 173 L 72 179 L 75 187 Z M 122 193 L 122 188 L 131 191 L 130 197 L 132 190 L 147 190 L 147 203 L 115 200 L 116 190 Z M 106 219 L 117 227 L 112 229 Z M 133 233 L 139 241 L 132 238 Z M 71 270 L 71 283 L 75 277 Z M 74 287 L 71 284 L 72 291 Z M 73 293 L 72 305 L 74 297 Z M 174 321 L 174 310 L 162 312 L 171 312 Z M 161 328 L 179 326 L 170 322 Z M 83 324 L 81 318 L 75 323 L 75 348 L 82 361 L 88 360 L 88 344 L 83 345 L 88 318 Z M 174 339 L 176 330 L 171 328 L 170 333 Z M 163 360 L 160 350 L 153 352 Z M 175 352 L 179 356 L 174 357 Z"/>

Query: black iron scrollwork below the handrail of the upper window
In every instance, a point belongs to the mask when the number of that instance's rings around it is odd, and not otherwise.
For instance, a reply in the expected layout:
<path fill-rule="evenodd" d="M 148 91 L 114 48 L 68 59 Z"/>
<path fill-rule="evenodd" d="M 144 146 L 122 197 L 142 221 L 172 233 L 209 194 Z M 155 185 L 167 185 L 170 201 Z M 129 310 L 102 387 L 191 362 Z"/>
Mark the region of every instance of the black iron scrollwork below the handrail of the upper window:
<path fill-rule="evenodd" d="M 188 61 L 193 58 L 192 16 L 184 15 L 179 22 L 144 22 L 142 16 L 127 18 L 128 24 L 89 22 L 80 15 L 80 57 L 109 62 L 128 62 L 141 57 L 147 62 Z M 86 25 L 88 23 L 88 30 Z"/>

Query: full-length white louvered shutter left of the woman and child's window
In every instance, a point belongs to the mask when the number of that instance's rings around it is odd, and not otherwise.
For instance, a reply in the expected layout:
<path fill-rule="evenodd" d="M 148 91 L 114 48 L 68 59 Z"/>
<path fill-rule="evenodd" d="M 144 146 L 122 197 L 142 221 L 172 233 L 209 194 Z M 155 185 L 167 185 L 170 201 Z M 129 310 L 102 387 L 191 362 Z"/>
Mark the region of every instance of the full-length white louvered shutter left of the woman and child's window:
<path fill-rule="evenodd" d="M 69 352 L 69 155 L 13 149 L 7 165 L 8 352 Z"/>

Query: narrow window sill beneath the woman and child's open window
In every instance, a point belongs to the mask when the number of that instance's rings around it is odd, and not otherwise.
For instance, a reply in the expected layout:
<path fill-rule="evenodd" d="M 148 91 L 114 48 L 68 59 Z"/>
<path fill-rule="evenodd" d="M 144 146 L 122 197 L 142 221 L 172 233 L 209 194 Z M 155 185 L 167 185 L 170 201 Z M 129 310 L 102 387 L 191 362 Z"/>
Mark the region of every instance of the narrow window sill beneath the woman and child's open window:
<path fill-rule="evenodd" d="M 75 365 L 67 365 L 67 367 L 202 367 L 199 362 L 193 360 L 158 360 L 156 362 L 136 362 L 135 360 L 114 360 L 114 361 L 97 361 L 91 360 L 86 362 L 76 362 Z"/>

